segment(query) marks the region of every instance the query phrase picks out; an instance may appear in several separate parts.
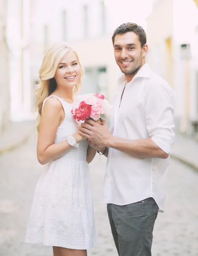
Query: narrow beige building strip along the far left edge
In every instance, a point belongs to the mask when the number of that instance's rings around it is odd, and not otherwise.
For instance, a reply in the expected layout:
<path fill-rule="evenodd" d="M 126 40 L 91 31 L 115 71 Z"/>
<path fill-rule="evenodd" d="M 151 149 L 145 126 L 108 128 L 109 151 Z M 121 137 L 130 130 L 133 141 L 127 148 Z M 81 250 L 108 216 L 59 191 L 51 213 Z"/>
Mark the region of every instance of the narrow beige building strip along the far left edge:
<path fill-rule="evenodd" d="M 0 133 L 9 124 L 9 49 L 6 41 L 7 0 L 0 1 Z"/>

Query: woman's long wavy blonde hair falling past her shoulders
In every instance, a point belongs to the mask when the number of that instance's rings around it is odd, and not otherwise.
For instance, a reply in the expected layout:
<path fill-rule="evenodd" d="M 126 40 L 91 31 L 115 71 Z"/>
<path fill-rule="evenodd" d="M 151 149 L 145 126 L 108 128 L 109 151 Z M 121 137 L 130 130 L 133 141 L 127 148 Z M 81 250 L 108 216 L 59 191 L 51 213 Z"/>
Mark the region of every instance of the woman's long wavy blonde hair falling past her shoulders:
<path fill-rule="evenodd" d="M 54 78 L 55 72 L 57 70 L 58 64 L 60 63 L 61 58 L 63 58 L 63 56 L 67 52 L 75 53 L 77 61 L 80 65 L 80 70 L 81 70 L 80 78 L 73 89 L 73 98 L 77 95 L 77 91 L 81 85 L 81 80 L 84 74 L 84 68 L 80 64 L 77 53 L 69 44 L 65 44 L 65 43 L 54 44 L 46 52 L 46 55 L 43 58 L 43 62 L 39 70 L 40 81 L 38 82 L 34 90 L 34 97 L 36 100 L 36 110 L 38 111 L 38 116 L 37 116 L 37 119 L 35 120 L 37 122 L 37 131 L 39 131 L 43 101 L 50 94 L 52 94 L 57 87 L 57 84 Z"/>

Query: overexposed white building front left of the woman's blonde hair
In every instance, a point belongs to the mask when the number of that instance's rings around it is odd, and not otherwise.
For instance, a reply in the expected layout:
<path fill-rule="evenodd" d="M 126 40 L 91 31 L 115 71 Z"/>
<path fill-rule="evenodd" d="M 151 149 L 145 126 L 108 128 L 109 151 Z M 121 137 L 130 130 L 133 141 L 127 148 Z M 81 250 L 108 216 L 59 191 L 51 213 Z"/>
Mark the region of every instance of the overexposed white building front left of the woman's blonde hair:
<path fill-rule="evenodd" d="M 10 116 L 13 121 L 32 119 L 30 99 L 30 0 L 8 0 Z"/>

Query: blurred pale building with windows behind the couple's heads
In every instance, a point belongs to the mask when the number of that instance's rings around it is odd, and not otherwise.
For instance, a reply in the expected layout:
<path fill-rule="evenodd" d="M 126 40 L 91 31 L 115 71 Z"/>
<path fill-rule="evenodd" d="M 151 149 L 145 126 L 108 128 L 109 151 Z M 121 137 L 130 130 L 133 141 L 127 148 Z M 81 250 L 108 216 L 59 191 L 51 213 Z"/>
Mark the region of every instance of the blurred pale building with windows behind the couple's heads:
<path fill-rule="evenodd" d="M 144 6 L 149 6 L 145 13 Z M 44 52 L 55 42 L 71 44 L 85 67 L 82 93 L 103 93 L 111 102 L 121 71 L 115 63 L 111 37 L 118 25 L 144 20 L 151 0 L 34 0 L 31 29 L 31 84 L 38 80 Z M 136 8 L 136 12 L 131 12 Z M 141 13 L 141 15 L 138 15 Z"/>

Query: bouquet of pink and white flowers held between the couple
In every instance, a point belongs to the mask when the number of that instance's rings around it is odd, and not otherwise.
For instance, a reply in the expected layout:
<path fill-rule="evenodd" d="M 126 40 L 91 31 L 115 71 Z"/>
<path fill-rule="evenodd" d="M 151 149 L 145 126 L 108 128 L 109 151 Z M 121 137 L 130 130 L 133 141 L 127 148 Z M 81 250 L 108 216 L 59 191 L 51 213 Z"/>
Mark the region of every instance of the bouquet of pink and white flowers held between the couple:
<path fill-rule="evenodd" d="M 84 121 L 93 119 L 97 121 L 100 115 L 109 116 L 111 111 L 110 103 L 99 93 L 88 93 L 77 96 L 72 104 L 72 116 L 75 120 Z"/>

